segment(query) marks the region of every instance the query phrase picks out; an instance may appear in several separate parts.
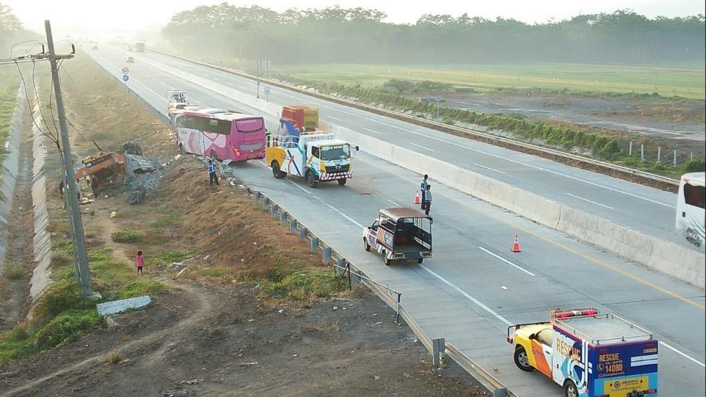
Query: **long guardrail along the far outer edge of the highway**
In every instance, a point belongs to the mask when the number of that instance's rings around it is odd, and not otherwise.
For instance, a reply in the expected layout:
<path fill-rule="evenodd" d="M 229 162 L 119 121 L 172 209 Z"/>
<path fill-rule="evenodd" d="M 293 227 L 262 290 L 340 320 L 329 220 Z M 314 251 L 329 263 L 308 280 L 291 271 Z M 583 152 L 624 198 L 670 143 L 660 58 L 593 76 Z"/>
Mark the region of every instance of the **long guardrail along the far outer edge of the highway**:
<path fill-rule="evenodd" d="M 298 87 L 297 85 L 283 83 L 282 81 L 253 76 L 249 73 L 245 73 L 244 71 L 238 71 L 235 69 L 229 69 L 229 68 L 225 68 L 222 66 L 208 64 L 208 63 L 202 62 L 202 61 L 196 61 L 194 59 L 181 57 L 180 55 L 170 54 L 169 52 L 164 52 L 164 51 L 160 51 L 157 49 L 150 49 L 150 51 L 157 52 L 158 54 L 163 54 L 168 57 L 174 57 L 177 59 L 181 59 L 183 61 L 191 62 L 192 64 L 198 64 L 201 66 L 209 67 L 211 69 L 217 69 L 220 71 L 224 71 L 226 73 L 231 73 L 236 76 L 249 78 L 251 80 L 259 80 L 262 83 L 268 83 L 270 85 L 275 85 L 276 87 L 285 88 L 287 90 L 293 90 L 297 93 L 309 95 L 312 97 L 318 97 L 320 99 L 328 100 L 330 102 L 335 102 L 340 105 L 347 105 L 349 107 L 355 107 L 357 109 L 362 109 L 362 110 L 366 110 L 366 111 L 369 111 L 372 113 L 381 114 L 383 116 L 392 117 L 394 119 L 399 119 L 399 120 L 402 120 L 405 122 L 411 122 L 412 124 L 417 124 L 419 126 L 425 126 L 430 129 L 436 129 L 437 131 L 449 132 L 452 134 L 454 134 L 454 133 L 455 134 L 463 134 L 463 136 L 468 136 L 470 138 L 484 141 L 486 143 L 493 143 L 496 146 L 501 146 L 499 144 L 502 143 L 505 146 L 511 146 L 513 148 L 520 149 L 520 150 L 515 149 L 517 151 L 530 152 L 530 153 L 534 153 L 534 154 L 538 154 L 538 155 L 543 155 L 545 157 L 549 157 L 554 160 L 561 160 L 561 162 L 565 162 L 570 165 L 574 165 L 575 163 L 584 164 L 584 165 L 591 165 L 593 167 L 598 167 L 605 174 L 611 174 L 616 177 L 620 177 L 620 176 L 640 177 L 640 178 L 645 179 L 649 182 L 666 185 L 669 188 L 667 190 L 672 190 L 672 189 L 678 187 L 678 185 L 679 185 L 678 179 L 663 177 L 662 175 L 652 174 L 651 172 L 634 170 L 630 167 L 625 167 L 623 165 L 616 165 L 616 164 L 612 164 L 610 162 L 605 162 L 602 160 L 594 160 L 592 158 L 585 158 L 580 155 L 574 155 L 572 153 L 565 153 L 560 150 L 545 148 L 544 146 L 538 146 L 538 145 L 534 145 L 532 143 L 515 141 L 510 138 L 505 138 L 503 136 L 489 134 L 484 131 L 462 128 L 459 126 L 444 124 L 441 122 L 436 122 L 436 121 L 424 119 L 421 117 L 411 116 L 409 114 L 405 114 L 402 112 L 396 112 L 394 110 L 385 109 L 383 107 L 377 107 L 377 106 L 373 106 L 373 105 L 368 105 L 366 103 L 357 102 L 354 100 L 348 100 L 348 99 L 345 99 L 342 97 L 324 94 L 324 93 L 318 92 L 318 90 L 304 89 L 304 88 Z M 664 186 L 660 186 L 660 187 L 664 187 Z"/>

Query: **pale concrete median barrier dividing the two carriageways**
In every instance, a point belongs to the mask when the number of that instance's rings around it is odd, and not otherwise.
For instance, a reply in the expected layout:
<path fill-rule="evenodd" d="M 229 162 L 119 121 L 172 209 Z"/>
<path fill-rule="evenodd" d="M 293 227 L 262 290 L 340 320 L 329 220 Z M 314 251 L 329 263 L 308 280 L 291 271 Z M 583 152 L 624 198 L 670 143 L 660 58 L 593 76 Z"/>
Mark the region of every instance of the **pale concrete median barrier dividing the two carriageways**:
<path fill-rule="evenodd" d="M 241 102 L 275 117 L 280 116 L 282 104 L 268 102 L 255 95 L 242 93 L 234 88 L 210 81 L 194 73 L 181 71 L 172 66 L 136 57 L 145 64 L 184 78 L 214 93 Z M 642 263 L 656 271 L 705 288 L 706 256 L 698 251 L 681 247 L 657 237 L 645 235 L 637 230 L 599 218 L 584 211 L 563 206 L 533 194 L 517 186 L 506 184 L 466 170 L 456 165 L 396 146 L 394 143 L 360 134 L 342 126 L 331 126 L 342 139 L 357 144 L 361 150 L 400 167 L 420 174 L 431 174 L 433 178 L 453 189 L 470 194 L 496 206 L 513 211 L 537 223 L 582 239 L 597 247 L 623 256 L 630 261 Z"/>

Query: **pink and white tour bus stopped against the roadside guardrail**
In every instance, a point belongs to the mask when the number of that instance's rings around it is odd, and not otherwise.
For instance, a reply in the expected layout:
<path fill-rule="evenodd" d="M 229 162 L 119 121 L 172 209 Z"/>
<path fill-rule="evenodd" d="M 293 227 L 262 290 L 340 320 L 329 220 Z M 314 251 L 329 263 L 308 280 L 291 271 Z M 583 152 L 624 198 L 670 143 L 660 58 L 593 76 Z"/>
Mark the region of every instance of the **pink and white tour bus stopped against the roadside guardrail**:
<path fill-rule="evenodd" d="M 265 158 L 262 117 L 196 106 L 175 110 L 170 116 L 181 153 L 232 162 Z"/>

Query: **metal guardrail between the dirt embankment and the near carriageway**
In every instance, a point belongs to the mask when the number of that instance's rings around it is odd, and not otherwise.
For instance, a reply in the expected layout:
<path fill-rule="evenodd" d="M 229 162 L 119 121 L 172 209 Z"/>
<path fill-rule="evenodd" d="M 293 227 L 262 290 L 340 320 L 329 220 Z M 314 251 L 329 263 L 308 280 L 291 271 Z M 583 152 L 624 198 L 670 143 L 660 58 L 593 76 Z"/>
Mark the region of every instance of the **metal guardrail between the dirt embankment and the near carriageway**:
<path fill-rule="evenodd" d="M 100 64 L 97 65 L 102 68 Z M 124 84 L 119 80 L 119 78 L 116 78 L 110 73 L 108 74 L 109 76 L 115 78 L 115 80 L 121 85 Z M 143 107 L 145 107 L 145 109 L 150 110 L 155 117 L 162 120 L 162 122 L 167 126 L 170 125 L 169 117 L 164 116 L 159 109 L 145 101 L 142 97 L 140 97 L 140 95 L 137 95 L 137 93 L 130 88 L 127 88 L 127 90 L 128 93 L 133 95 L 133 97 L 135 97 L 135 99 L 138 100 Z M 198 157 L 196 155 L 194 155 L 194 157 L 201 159 L 204 163 L 208 161 L 208 158 Z M 222 164 L 220 164 L 220 170 L 222 174 L 228 174 L 227 168 Z M 241 184 L 236 184 L 233 179 L 230 178 L 228 179 L 228 182 L 231 186 L 233 186 L 234 191 L 244 191 L 246 194 L 251 196 L 256 203 L 263 206 L 264 209 L 269 210 L 270 216 L 273 219 L 279 219 L 282 227 L 288 227 L 290 234 L 298 234 L 302 241 L 309 241 L 311 244 L 312 253 L 321 252 L 324 263 L 327 266 L 332 266 L 337 275 L 347 275 L 350 288 L 354 288 L 358 284 L 364 285 L 372 290 L 381 300 L 383 300 L 383 302 L 395 309 L 395 321 L 399 323 L 400 319 L 405 320 L 407 326 L 409 326 L 409 328 L 412 329 L 412 332 L 414 332 L 414 335 L 419 338 L 422 345 L 424 345 L 426 350 L 429 350 L 431 353 L 433 365 L 442 365 L 445 357 L 450 357 L 460 367 L 465 369 L 465 371 L 468 372 L 474 379 L 479 381 L 482 386 L 488 389 L 488 391 L 492 393 L 493 397 L 516 396 L 515 393 L 508 390 L 505 386 L 503 386 L 503 384 L 501 384 L 500 381 L 498 381 L 498 379 L 493 377 L 493 375 L 464 355 L 453 344 L 445 342 L 443 338 L 431 340 L 429 336 L 426 336 L 426 333 L 421 330 L 419 325 L 417 325 L 417 322 L 414 321 L 412 316 L 410 316 L 407 310 L 405 310 L 405 306 L 402 303 L 402 292 L 388 288 L 387 286 L 377 283 L 375 280 L 369 278 L 363 271 L 347 261 L 345 257 L 338 254 L 335 250 L 328 246 L 328 244 L 323 242 L 323 240 L 311 232 L 311 230 L 309 230 L 304 223 L 301 223 L 299 220 L 292 217 L 292 215 L 287 213 L 285 208 L 275 203 L 275 201 L 270 199 L 268 196 L 265 196 L 262 192 L 250 189 L 249 187 Z"/>

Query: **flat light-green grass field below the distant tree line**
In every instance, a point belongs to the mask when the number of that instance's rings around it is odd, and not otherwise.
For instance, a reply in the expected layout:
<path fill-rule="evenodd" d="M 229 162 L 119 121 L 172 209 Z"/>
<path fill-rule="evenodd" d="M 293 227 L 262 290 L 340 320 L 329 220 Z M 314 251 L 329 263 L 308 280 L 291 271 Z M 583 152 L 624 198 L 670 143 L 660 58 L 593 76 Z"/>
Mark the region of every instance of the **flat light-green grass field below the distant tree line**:
<path fill-rule="evenodd" d="M 664 97 L 704 100 L 703 65 L 624 66 L 607 64 L 463 64 L 385 66 L 367 64 L 304 64 L 277 67 L 277 73 L 299 78 L 363 87 L 381 85 L 390 78 L 431 80 L 477 90 L 570 90 L 602 95 L 659 93 Z"/>

